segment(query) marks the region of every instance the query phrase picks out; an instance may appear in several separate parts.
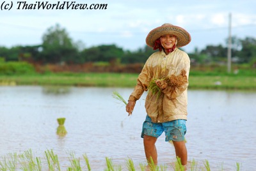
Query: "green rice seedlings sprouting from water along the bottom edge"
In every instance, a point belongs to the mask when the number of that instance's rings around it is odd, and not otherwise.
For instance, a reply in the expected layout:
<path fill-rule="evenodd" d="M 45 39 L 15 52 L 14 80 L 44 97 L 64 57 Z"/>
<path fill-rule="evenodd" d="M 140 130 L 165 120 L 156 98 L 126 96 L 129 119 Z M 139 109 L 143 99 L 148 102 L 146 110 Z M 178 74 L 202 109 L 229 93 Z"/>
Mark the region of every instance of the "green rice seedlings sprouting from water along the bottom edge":
<path fill-rule="evenodd" d="M 86 154 L 83 154 L 82 158 L 77 158 L 74 152 L 70 151 L 67 152 L 69 165 L 65 163 L 61 167 L 61 163 L 58 160 L 58 155 L 54 154 L 52 150 L 47 150 L 44 152 L 44 158 L 35 157 L 31 149 L 28 151 L 24 151 L 22 154 L 7 154 L 0 158 L 0 170 L 33 170 L 33 171 L 41 171 L 41 170 L 93 170 L 90 167 L 90 163 Z M 106 171 L 121 171 L 121 170 L 145 170 L 147 165 L 140 163 L 139 166 L 135 166 L 134 162 L 131 158 L 127 159 L 125 163 L 122 165 L 116 165 L 111 158 L 106 157 L 106 166 L 104 170 Z M 45 165 L 45 163 L 47 163 Z M 86 165 L 84 165 L 84 163 Z M 126 164 L 126 165 L 125 165 Z M 177 158 L 177 161 L 174 163 L 166 164 L 166 165 L 154 165 L 154 162 L 148 161 L 148 167 L 150 171 L 157 171 L 157 170 L 170 170 L 172 168 L 175 171 L 182 171 L 184 167 L 181 165 L 181 161 Z M 199 171 L 199 170 L 211 170 L 210 164 L 208 160 L 204 161 L 204 165 L 198 165 L 195 160 L 189 161 L 187 165 L 188 170 L 191 171 Z M 239 171 L 241 169 L 241 163 L 236 163 L 234 165 L 234 170 Z M 221 165 L 220 170 L 223 170 L 223 165 Z"/>

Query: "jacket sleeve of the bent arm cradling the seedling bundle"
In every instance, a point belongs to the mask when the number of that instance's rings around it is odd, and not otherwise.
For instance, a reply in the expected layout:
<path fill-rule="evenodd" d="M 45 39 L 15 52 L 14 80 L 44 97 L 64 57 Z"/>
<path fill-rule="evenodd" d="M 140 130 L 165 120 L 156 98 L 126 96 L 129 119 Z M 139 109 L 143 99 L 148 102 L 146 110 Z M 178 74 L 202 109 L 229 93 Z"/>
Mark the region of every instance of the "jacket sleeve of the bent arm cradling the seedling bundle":
<path fill-rule="evenodd" d="M 169 99 L 175 99 L 177 98 L 177 96 L 180 96 L 180 94 L 182 94 L 189 85 L 188 82 L 188 77 L 189 77 L 189 69 L 190 69 L 190 61 L 189 61 L 189 57 L 188 55 L 185 57 L 185 60 L 182 63 L 179 63 L 178 66 L 175 68 L 175 70 L 173 70 L 174 75 L 179 75 L 182 70 L 186 71 L 186 80 L 187 82 L 185 84 L 180 85 L 179 87 L 177 86 L 168 86 L 166 87 L 166 89 L 163 89 L 163 93 L 166 94 L 166 96 Z"/>

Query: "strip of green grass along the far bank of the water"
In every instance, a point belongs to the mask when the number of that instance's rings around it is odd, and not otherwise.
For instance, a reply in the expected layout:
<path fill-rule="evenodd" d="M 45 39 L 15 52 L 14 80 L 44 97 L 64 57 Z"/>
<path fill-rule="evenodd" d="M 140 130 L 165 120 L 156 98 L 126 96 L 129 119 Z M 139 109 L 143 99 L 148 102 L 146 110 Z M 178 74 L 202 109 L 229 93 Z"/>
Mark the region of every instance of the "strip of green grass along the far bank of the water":
<path fill-rule="evenodd" d="M 256 75 L 202 73 L 189 76 L 189 89 L 256 90 Z M 83 87 L 134 87 L 138 74 L 131 73 L 46 73 L 0 75 L 0 85 L 61 85 Z"/>

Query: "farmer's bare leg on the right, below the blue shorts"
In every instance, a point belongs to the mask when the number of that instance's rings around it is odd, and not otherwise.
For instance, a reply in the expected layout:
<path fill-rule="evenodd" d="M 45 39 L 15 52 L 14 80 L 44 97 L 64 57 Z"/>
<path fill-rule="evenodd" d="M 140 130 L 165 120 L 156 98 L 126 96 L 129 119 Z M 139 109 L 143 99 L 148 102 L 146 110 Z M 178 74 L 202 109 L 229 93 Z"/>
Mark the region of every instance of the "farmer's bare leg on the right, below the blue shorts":
<path fill-rule="evenodd" d="M 175 147 L 176 156 L 180 158 L 182 165 L 186 166 L 188 162 L 188 152 L 184 141 L 175 142 L 173 141 Z"/>

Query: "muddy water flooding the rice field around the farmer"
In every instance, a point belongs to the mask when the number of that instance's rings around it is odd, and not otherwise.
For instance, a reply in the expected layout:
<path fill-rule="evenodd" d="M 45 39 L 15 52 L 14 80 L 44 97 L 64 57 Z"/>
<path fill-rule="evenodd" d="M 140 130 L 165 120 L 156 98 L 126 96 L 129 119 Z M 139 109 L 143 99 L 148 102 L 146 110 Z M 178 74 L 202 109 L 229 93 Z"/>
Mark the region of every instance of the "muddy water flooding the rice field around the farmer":
<path fill-rule="evenodd" d="M 63 170 L 74 152 L 85 168 L 83 154 L 92 170 L 104 170 L 105 158 L 123 165 L 132 158 L 137 167 L 145 163 L 141 124 L 145 119 L 145 94 L 131 117 L 112 96 L 118 91 L 127 99 L 132 89 L 19 86 L 0 87 L 0 156 L 31 149 L 44 158 L 44 151 L 58 154 Z M 189 91 L 188 159 L 212 170 L 256 168 L 256 92 Z M 59 117 L 65 117 L 65 137 L 56 135 Z M 159 164 L 175 161 L 173 145 L 157 141 Z M 2 160 L 2 159 L 0 159 Z"/>

